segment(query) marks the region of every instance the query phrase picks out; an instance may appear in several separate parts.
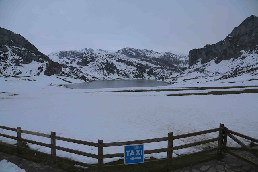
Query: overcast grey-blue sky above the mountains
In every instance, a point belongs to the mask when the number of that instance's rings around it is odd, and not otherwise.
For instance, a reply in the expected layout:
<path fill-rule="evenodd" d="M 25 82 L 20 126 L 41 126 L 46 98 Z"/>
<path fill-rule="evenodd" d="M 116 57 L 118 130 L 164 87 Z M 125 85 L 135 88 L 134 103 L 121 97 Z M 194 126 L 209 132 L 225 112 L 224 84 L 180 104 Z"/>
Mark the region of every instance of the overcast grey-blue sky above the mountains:
<path fill-rule="evenodd" d="M 124 47 L 188 54 L 223 40 L 257 9 L 257 0 L 0 0 L 0 27 L 44 54 Z"/>

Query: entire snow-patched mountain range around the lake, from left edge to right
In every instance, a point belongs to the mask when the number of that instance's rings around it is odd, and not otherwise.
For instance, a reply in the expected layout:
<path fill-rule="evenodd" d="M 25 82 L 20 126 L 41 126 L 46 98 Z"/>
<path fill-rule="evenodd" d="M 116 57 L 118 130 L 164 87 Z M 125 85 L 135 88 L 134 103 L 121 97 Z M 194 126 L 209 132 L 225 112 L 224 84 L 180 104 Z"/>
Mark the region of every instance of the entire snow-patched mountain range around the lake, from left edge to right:
<path fill-rule="evenodd" d="M 52 52 L 46 56 L 19 34 L 0 28 L 0 76 L 80 79 L 151 78 L 169 83 L 258 76 L 258 18 L 250 16 L 222 41 L 187 54 L 123 48 Z"/>

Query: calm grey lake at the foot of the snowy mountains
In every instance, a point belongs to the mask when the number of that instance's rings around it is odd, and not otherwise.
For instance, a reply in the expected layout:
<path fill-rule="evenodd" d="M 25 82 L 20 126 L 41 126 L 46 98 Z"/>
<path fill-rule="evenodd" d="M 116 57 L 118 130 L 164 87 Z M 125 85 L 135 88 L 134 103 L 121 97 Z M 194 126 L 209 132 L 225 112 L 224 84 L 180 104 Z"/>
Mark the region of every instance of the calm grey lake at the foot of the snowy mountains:
<path fill-rule="evenodd" d="M 125 88 L 125 87 L 157 87 L 167 85 L 166 82 L 154 79 L 120 79 L 101 80 L 89 83 L 64 84 L 68 88 L 74 89 L 94 89 L 94 88 Z"/>

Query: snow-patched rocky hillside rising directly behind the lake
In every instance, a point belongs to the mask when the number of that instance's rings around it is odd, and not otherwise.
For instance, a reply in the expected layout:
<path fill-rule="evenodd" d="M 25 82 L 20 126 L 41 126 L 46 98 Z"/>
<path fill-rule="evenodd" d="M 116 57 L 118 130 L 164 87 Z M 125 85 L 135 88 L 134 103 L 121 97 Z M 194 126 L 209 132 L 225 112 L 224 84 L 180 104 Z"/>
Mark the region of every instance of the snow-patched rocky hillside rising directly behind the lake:
<path fill-rule="evenodd" d="M 114 79 L 114 78 L 155 78 L 164 79 L 175 71 L 181 71 L 177 65 L 163 65 L 151 58 L 136 59 L 119 52 L 102 49 L 52 52 L 49 58 L 62 64 L 65 77 L 73 77 L 71 71 L 85 75 L 85 78 Z M 83 77 L 84 78 L 84 77 Z"/>

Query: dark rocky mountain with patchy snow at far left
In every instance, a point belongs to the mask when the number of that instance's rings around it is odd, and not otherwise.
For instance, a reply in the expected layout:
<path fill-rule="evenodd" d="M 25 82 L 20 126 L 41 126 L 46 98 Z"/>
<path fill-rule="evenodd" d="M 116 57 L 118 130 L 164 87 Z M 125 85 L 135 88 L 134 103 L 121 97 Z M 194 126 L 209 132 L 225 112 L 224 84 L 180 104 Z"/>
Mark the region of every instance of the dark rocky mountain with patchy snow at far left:
<path fill-rule="evenodd" d="M 60 72 L 60 64 L 51 61 L 24 37 L 0 28 L 0 76 L 54 75 Z"/>

